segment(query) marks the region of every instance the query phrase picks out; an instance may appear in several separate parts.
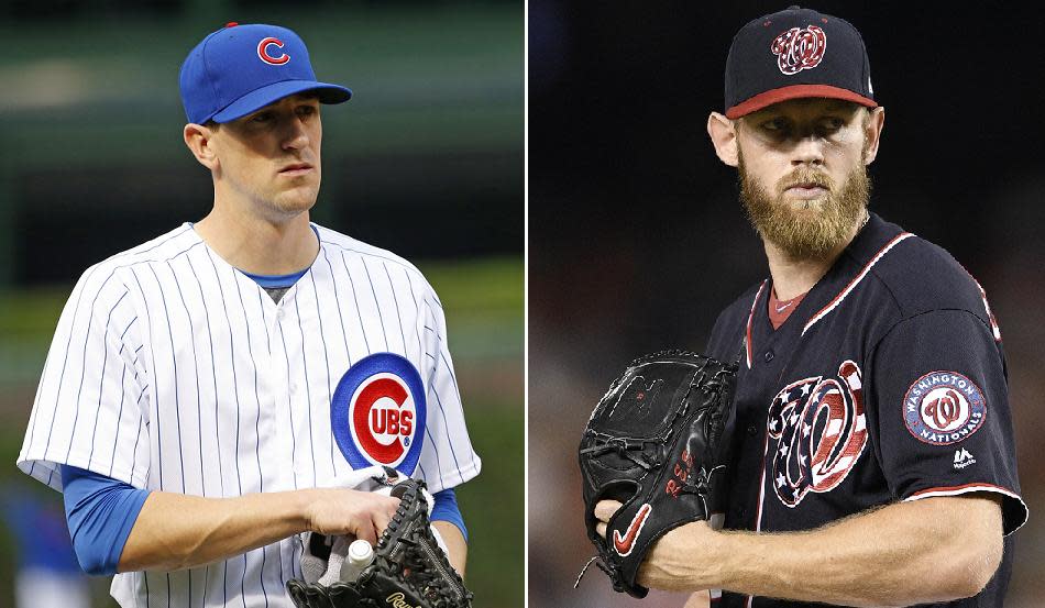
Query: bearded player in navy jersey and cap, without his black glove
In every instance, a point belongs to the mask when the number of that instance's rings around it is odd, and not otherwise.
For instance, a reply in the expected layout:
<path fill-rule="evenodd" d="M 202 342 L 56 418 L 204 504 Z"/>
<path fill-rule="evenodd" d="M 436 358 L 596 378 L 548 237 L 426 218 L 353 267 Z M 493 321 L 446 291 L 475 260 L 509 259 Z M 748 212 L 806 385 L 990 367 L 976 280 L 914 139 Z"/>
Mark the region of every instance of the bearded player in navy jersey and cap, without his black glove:
<path fill-rule="evenodd" d="M 1002 336 L 958 262 L 868 212 L 886 112 L 859 32 L 761 16 L 725 84 L 707 131 L 769 262 L 707 349 L 740 353 L 726 530 L 672 530 L 639 582 L 730 608 L 1002 606 L 1027 518 Z"/>

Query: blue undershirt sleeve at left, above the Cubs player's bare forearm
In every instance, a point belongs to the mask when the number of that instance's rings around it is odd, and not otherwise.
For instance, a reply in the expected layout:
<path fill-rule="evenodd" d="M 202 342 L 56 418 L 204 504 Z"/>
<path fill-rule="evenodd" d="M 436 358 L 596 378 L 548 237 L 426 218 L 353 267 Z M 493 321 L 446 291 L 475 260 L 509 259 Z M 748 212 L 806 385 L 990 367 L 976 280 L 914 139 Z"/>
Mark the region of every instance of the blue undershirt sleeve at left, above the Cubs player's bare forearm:
<path fill-rule="evenodd" d="M 87 574 L 116 574 L 148 490 L 68 465 L 62 486 L 76 561 Z"/>

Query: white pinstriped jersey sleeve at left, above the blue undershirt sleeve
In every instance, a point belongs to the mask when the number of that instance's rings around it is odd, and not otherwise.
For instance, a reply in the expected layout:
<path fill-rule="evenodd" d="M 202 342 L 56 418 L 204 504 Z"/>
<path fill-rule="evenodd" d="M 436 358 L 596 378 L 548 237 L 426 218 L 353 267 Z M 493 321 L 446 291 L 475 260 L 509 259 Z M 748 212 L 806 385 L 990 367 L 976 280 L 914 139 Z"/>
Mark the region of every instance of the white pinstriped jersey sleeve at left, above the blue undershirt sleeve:
<path fill-rule="evenodd" d="M 68 464 L 144 487 L 148 371 L 133 298 L 118 266 L 87 269 L 66 302 L 44 364 L 18 466 L 62 489 Z"/>

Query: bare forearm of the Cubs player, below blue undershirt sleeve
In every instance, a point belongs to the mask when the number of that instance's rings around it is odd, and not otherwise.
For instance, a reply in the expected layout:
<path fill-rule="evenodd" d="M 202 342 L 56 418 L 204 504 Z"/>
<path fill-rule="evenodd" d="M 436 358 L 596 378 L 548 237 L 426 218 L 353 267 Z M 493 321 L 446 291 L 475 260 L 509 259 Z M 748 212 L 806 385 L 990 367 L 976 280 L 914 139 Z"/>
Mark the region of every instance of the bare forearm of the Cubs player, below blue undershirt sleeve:
<path fill-rule="evenodd" d="M 201 498 L 150 494 L 131 529 L 119 571 L 176 571 L 245 553 L 308 529 L 307 493 Z"/>

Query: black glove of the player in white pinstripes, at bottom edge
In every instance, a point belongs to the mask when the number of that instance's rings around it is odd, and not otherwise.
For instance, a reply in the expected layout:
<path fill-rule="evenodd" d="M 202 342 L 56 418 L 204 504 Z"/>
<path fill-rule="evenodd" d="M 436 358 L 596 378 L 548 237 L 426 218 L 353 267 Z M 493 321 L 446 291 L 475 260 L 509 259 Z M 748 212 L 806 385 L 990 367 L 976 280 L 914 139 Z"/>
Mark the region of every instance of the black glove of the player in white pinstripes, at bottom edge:
<path fill-rule="evenodd" d="M 374 548 L 374 562 L 359 578 L 331 585 L 287 582 L 287 593 L 298 608 L 471 608 L 472 593 L 453 570 L 431 533 L 425 482 L 407 479 L 392 489 L 399 508 Z M 310 556 L 316 546 L 310 538 Z M 328 550 L 329 551 L 329 550 Z M 302 572 L 306 570 L 302 559 Z"/>

